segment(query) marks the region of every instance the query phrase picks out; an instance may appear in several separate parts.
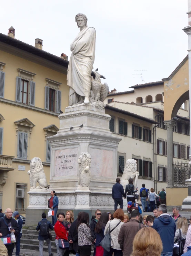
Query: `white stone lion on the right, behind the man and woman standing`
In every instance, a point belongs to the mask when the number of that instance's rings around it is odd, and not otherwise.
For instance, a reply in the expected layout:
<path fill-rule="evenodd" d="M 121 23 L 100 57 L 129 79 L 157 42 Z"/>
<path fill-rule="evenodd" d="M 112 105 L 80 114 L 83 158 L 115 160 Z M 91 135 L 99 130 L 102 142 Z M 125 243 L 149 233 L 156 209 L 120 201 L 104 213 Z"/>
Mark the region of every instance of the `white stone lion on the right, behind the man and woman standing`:
<path fill-rule="evenodd" d="M 125 163 L 123 175 L 121 177 L 121 184 L 123 188 L 129 184 L 129 179 L 133 179 L 134 187 L 137 187 L 139 172 L 137 171 L 137 162 L 134 159 L 128 159 Z"/>

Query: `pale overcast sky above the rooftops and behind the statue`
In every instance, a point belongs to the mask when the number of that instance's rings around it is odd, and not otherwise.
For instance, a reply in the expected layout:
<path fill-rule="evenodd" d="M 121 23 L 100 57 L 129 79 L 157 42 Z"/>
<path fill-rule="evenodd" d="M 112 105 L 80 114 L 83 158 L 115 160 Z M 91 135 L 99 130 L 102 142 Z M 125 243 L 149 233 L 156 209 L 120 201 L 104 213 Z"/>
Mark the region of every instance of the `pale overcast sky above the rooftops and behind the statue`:
<path fill-rule="evenodd" d="M 160 81 L 187 55 L 187 0 L 33 0 L 2 1 L 0 33 L 16 29 L 17 39 L 43 50 L 70 57 L 70 44 L 79 33 L 75 15 L 88 17 L 96 29 L 94 69 L 106 77 L 109 89 L 129 90 L 141 83 Z M 139 78 L 134 78 L 139 77 Z"/>

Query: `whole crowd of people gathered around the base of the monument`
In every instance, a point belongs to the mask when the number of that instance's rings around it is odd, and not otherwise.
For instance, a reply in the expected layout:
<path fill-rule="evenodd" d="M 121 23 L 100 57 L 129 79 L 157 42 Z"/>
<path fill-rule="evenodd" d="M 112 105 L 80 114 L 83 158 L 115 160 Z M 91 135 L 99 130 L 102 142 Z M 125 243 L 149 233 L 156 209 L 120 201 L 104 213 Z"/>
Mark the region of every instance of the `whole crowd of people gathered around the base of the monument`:
<path fill-rule="evenodd" d="M 155 208 L 155 203 L 151 203 L 151 208 L 154 208 L 153 215 L 142 217 L 142 210 L 129 191 L 131 189 L 133 194 L 137 191 L 132 180 L 129 180 L 125 192 L 121 186 L 120 179 L 117 178 L 112 196 L 116 194 L 116 190 L 124 197 L 127 195 L 127 213 L 124 213 L 121 207 L 113 214 L 102 213 L 97 209 L 91 221 L 87 212 L 79 212 L 75 220 L 72 211 L 67 211 L 66 215 L 62 211 L 58 212 L 59 200 L 55 191 L 51 191 L 48 206 L 56 215 L 52 216 L 51 223 L 43 212 L 42 219 L 38 222 L 36 230 L 39 231 L 39 255 L 43 256 L 46 241 L 49 256 L 53 256 L 51 240 L 55 239 L 57 256 L 69 256 L 70 253 L 76 256 L 90 256 L 91 251 L 94 256 L 191 256 L 191 225 L 188 227 L 188 221 L 179 214 L 179 208 L 174 206 L 171 216 L 167 213 L 166 204 L 161 204 L 160 200 L 158 208 Z M 166 199 L 163 189 L 162 193 L 158 194 L 152 190 L 151 188 L 151 192 L 148 193 L 148 189 L 142 184 L 140 196 L 143 207 L 148 198 L 150 202 L 156 197 Z M 115 206 L 121 203 L 119 199 L 120 197 L 115 200 Z M 0 255 L 11 256 L 16 245 L 16 256 L 19 256 L 22 226 L 23 221 L 18 211 L 13 213 L 11 209 L 6 209 L 4 216 L 0 210 Z M 50 230 L 55 231 L 54 238 Z M 3 239 L 6 238 L 8 241 L 11 233 L 14 234 L 16 242 L 4 243 Z M 179 244 L 179 247 L 174 247 L 174 244 Z"/>

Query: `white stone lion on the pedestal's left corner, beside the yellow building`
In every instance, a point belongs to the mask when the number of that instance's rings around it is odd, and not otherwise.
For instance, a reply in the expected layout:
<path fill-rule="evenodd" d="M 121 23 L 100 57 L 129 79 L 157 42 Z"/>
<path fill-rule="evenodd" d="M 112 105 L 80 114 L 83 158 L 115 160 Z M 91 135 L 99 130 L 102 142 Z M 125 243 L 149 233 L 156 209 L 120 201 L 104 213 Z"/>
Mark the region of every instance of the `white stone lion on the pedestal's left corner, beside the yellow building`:
<path fill-rule="evenodd" d="M 30 189 L 48 189 L 49 185 L 46 179 L 46 175 L 44 173 L 44 168 L 42 165 L 42 161 L 39 157 L 34 157 L 31 159 L 30 162 L 30 170 L 28 171 L 28 174 L 30 175 Z M 39 183 L 39 186 L 36 187 L 36 183 Z"/>

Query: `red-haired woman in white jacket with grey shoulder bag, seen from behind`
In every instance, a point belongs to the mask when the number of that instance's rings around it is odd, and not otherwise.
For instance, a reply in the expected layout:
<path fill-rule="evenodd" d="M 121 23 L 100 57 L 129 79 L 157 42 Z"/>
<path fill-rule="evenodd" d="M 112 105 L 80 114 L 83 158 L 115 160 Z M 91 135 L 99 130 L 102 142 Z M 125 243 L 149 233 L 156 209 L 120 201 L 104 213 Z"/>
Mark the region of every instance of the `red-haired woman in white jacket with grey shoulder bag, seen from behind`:
<path fill-rule="evenodd" d="M 120 245 L 118 243 L 118 235 L 121 226 L 124 224 L 124 212 L 122 209 L 117 209 L 113 214 L 114 219 L 109 220 L 108 223 L 105 226 L 104 230 L 104 236 L 107 234 L 107 232 L 113 229 L 113 231 L 110 233 L 111 235 L 111 249 L 110 251 L 104 250 L 103 256 L 112 256 L 114 253 L 114 256 L 122 256 L 122 250 L 120 249 Z"/>

